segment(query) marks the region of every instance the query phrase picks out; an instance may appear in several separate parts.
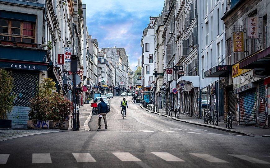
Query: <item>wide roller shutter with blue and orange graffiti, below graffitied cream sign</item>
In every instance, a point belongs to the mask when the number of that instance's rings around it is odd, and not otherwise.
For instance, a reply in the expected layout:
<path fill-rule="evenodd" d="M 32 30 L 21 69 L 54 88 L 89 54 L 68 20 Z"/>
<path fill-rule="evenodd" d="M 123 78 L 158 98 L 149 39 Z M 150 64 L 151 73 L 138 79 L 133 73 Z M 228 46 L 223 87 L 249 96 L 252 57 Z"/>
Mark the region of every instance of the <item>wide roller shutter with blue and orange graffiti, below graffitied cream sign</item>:
<path fill-rule="evenodd" d="M 256 124 L 257 94 L 256 89 L 239 94 L 240 124 Z"/>

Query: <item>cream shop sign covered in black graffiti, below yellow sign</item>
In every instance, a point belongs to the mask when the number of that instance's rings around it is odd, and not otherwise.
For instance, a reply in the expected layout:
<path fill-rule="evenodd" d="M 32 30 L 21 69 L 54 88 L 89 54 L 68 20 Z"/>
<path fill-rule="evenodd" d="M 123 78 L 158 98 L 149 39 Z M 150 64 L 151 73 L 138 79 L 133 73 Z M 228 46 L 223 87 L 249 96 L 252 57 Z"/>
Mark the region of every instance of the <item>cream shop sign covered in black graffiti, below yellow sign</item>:
<path fill-rule="evenodd" d="M 238 87 L 242 87 L 245 86 L 249 83 L 255 82 L 260 80 L 261 78 L 259 77 L 254 77 L 253 76 L 253 69 L 245 72 L 241 75 L 239 75 L 238 77 L 235 77 L 232 79 L 232 88 L 235 90 Z"/>

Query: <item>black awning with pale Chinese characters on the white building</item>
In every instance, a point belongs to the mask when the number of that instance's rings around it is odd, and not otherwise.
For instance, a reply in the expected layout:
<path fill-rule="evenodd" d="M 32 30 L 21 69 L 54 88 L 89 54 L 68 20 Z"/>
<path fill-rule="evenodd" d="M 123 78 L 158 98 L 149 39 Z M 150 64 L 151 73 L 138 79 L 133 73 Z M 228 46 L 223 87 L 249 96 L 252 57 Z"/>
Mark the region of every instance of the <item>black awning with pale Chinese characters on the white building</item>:
<path fill-rule="evenodd" d="M 228 77 L 231 70 L 231 65 L 217 65 L 204 72 L 204 77 Z"/>

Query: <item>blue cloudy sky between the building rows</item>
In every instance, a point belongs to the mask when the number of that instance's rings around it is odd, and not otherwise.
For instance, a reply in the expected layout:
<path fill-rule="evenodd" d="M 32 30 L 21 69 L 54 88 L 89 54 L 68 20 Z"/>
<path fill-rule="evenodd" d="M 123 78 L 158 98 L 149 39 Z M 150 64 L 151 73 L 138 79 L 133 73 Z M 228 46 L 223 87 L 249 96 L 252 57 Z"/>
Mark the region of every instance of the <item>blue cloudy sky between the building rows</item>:
<path fill-rule="evenodd" d="M 150 16 L 158 16 L 164 0 L 82 0 L 86 4 L 89 35 L 98 48 L 125 48 L 131 69 L 142 54 L 140 41 Z"/>

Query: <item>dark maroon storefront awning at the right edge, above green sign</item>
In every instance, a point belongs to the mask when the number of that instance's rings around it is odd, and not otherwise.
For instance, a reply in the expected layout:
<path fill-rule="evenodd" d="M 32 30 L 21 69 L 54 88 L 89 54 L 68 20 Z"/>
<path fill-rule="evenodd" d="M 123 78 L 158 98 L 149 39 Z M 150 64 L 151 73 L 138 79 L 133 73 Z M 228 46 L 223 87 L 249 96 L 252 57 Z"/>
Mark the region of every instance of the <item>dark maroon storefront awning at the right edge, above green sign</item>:
<path fill-rule="evenodd" d="M 260 50 L 241 61 L 239 68 L 254 69 L 254 68 L 269 68 L 270 65 L 270 47 Z"/>

